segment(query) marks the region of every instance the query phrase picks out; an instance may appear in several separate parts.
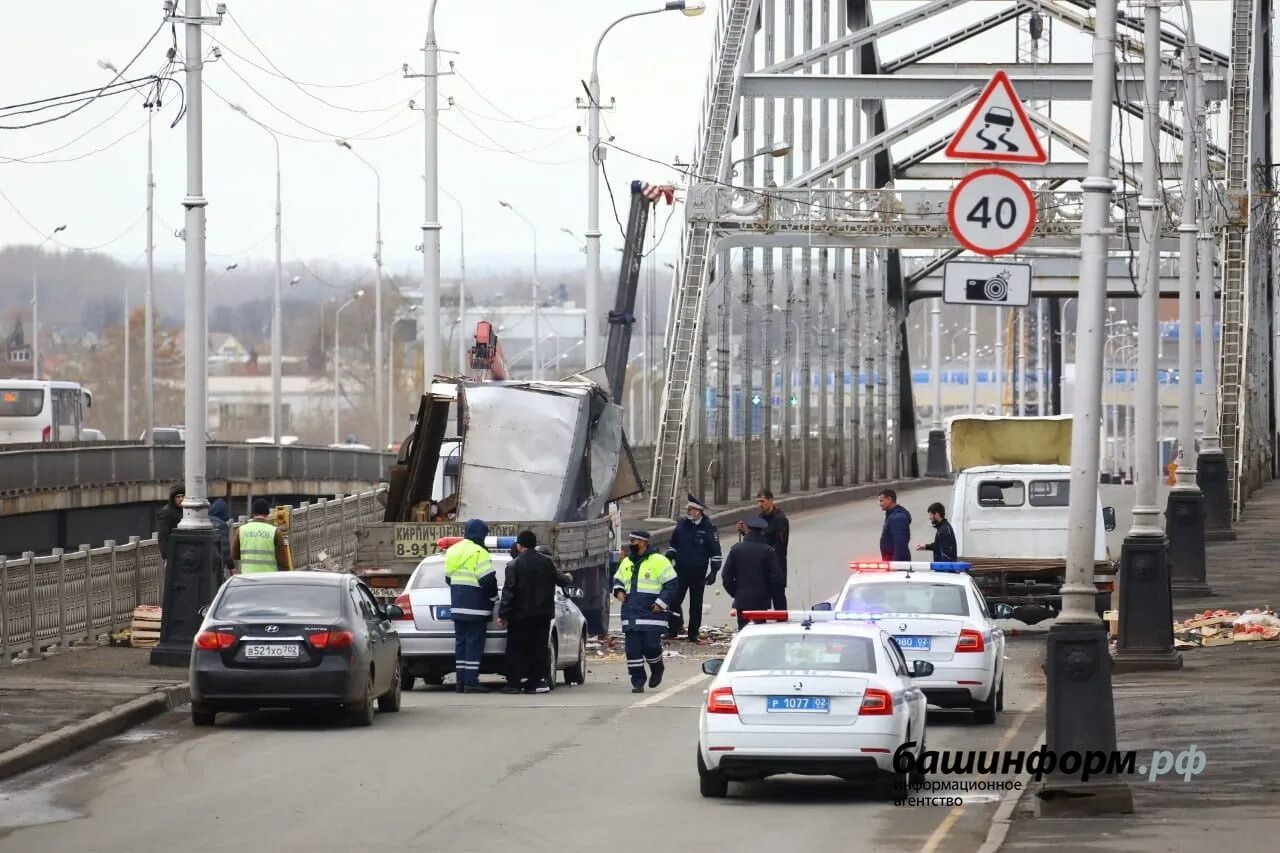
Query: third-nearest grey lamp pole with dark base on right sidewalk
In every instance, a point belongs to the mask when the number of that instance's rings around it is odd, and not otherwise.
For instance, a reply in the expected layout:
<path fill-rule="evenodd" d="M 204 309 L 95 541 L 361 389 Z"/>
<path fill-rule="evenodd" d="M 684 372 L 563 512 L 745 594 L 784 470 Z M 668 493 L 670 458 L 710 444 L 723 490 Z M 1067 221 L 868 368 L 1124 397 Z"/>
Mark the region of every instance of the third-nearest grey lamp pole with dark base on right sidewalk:
<path fill-rule="evenodd" d="M 1192 27 L 1190 1 L 1185 4 Z M 1188 35 L 1194 32 L 1189 29 Z M 1196 483 L 1196 243 L 1197 158 L 1194 76 L 1188 51 L 1183 76 L 1183 213 L 1178 224 L 1178 473 L 1165 507 L 1171 564 L 1170 589 L 1176 596 L 1210 596 L 1206 583 L 1204 494 Z"/>

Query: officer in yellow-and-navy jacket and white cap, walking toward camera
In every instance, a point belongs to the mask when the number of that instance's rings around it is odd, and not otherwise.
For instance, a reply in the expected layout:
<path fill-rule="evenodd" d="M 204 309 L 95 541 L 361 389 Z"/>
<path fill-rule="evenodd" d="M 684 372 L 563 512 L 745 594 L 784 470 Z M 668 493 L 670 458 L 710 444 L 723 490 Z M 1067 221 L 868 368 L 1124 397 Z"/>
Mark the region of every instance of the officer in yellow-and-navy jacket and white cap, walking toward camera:
<path fill-rule="evenodd" d="M 662 684 L 666 671 L 662 635 L 678 587 L 671 561 L 649 549 L 649 534 L 631 532 L 627 553 L 613 575 L 613 597 L 622 602 L 622 634 L 632 693 L 644 693 L 645 663 L 649 665 L 649 686 Z"/>

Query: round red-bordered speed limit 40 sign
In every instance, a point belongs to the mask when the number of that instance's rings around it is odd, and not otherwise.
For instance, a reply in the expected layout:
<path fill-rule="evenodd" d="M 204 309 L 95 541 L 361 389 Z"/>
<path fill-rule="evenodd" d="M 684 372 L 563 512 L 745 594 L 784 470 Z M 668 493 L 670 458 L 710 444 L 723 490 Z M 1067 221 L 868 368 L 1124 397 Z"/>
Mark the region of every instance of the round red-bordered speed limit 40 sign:
<path fill-rule="evenodd" d="M 947 223 L 969 251 L 988 257 L 1007 255 L 1036 229 L 1036 196 L 1007 169 L 978 169 L 951 192 Z"/>

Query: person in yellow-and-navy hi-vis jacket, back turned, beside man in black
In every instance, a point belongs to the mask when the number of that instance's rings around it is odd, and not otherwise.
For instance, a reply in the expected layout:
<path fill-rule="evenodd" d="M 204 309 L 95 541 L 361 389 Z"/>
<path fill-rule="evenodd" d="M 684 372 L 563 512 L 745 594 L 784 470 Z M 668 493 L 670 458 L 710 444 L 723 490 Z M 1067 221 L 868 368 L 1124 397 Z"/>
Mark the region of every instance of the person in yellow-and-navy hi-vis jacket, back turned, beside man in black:
<path fill-rule="evenodd" d="M 498 575 L 484 544 L 489 525 L 471 519 L 461 542 L 444 552 L 444 583 L 449 585 L 453 617 L 453 669 L 458 693 L 488 693 L 480 686 L 480 662 L 493 602 L 498 598 Z"/>

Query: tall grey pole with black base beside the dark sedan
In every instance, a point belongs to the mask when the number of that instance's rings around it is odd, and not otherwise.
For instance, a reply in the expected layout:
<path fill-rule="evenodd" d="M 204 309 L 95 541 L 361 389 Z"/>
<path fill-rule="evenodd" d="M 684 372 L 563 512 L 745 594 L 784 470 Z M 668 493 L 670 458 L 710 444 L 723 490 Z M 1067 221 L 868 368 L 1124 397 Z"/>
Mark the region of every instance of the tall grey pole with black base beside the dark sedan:
<path fill-rule="evenodd" d="M 218 4 L 214 17 L 200 14 L 198 0 L 187 0 L 187 14 L 178 14 L 177 4 L 170 6 L 166 20 L 182 24 L 186 31 L 183 67 L 187 78 L 187 195 L 182 200 L 186 209 L 186 282 L 184 282 L 184 379 L 186 428 L 183 443 L 183 469 L 186 487 L 182 501 L 182 520 L 169 538 L 165 571 L 164 620 L 160 643 L 151 649 L 151 663 L 163 666 L 188 666 L 196 630 L 200 626 L 200 608 L 212 601 L 220 585 L 220 566 L 216 565 L 215 538 L 209 523 L 209 492 L 206 483 L 206 425 L 209 419 L 209 306 L 205 287 L 205 199 L 204 175 L 204 101 L 205 87 L 202 28 L 221 23 L 223 4 Z"/>

